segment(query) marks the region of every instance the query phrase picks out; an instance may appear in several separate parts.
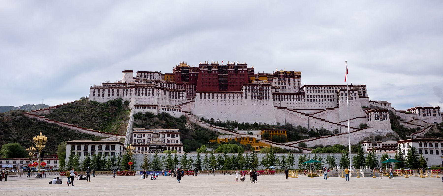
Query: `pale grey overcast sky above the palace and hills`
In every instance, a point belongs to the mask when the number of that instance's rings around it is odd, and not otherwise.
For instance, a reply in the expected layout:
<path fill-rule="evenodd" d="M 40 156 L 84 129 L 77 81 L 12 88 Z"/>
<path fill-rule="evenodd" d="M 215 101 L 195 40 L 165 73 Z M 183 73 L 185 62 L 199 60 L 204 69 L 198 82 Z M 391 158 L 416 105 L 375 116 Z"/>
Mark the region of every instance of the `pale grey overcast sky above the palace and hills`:
<path fill-rule="evenodd" d="M 57 105 L 185 61 L 366 84 L 396 109 L 443 103 L 443 1 L 0 0 L 0 106 Z"/>

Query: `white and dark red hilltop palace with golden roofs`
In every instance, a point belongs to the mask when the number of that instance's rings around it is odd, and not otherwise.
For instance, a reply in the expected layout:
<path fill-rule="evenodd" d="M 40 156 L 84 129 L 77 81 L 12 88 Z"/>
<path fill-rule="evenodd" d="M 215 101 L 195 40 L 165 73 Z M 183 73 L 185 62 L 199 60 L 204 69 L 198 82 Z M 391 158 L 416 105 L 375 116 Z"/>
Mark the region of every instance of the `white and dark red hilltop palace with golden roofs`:
<path fill-rule="evenodd" d="M 349 100 L 352 143 L 387 133 L 391 130 L 388 110 L 400 116 L 408 128 L 428 128 L 442 121 L 439 107 L 414 107 L 395 110 L 390 103 L 370 101 L 365 84 L 350 85 L 302 84 L 301 72 L 277 70 L 274 73 L 256 73 L 247 64 L 216 62 L 200 63 L 191 67 L 180 63 L 172 73 L 124 70 L 121 80 L 102 83 L 90 88 L 89 99 L 107 102 L 117 98 L 130 101 L 135 113 L 183 114 L 194 121 L 204 117 L 221 121 L 261 122 L 266 124 L 291 123 L 310 128 L 338 129 L 340 134 L 285 143 L 297 147 L 315 144 L 347 143 L 347 109 Z M 358 128 L 367 123 L 367 128 Z M 235 133 L 241 136 L 241 133 Z M 132 134 L 127 134 L 132 136 Z M 132 141 L 131 138 L 127 140 Z"/>

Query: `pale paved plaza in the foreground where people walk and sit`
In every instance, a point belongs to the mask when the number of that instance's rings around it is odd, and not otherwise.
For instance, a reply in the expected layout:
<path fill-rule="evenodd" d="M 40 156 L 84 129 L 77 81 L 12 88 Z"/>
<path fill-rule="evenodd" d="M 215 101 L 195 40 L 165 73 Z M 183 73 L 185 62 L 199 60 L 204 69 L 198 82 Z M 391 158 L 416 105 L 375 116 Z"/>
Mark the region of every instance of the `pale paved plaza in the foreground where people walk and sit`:
<path fill-rule="evenodd" d="M 258 183 L 246 181 L 236 182 L 234 175 L 217 175 L 215 177 L 201 174 L 199 177 L 185 176 L 182 183 L 171 177 L 158 177 L 157 180 L 140 179 L 135 177 L 116 177 L 100 175 L 92 177 L 91 182 L 74 180 L 75 187 L 66 185 L 66 177 L 62 177 L 62 185 L 49 185 L 53 177 L 26 178 L 10 177 L 8 181 L 0 182 L 0 193 L 4 196 L 57 196 L 57 195 L 87 195 L 87 196 L 139 196 L 139 195 L 180 195 L 180 196 L 228 196 L 228 195 L 411 195 L 411 196 L 441 196 L 443 183 L 439 178 L 388 177 L 383 179 L 371 177 L 351 177 L 350 182 L 345 178 L 323 177 L 285 179 L 284 175 L 261 176 Z"/>

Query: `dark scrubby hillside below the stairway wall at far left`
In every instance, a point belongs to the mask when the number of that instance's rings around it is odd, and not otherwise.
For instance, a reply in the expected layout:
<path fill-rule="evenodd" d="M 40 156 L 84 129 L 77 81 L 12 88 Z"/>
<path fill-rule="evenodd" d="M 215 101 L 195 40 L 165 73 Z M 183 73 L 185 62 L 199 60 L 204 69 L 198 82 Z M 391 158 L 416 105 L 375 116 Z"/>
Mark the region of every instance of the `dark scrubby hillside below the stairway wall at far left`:
<path fill-rule="evenodd" d="M 55 153 L 57 145 L 74 139 L 99 140 L 100 137 L 62 128 L 58 125 L 38 121 L 23 115 L 23 110 L 12 110 L 0 113 L 0 147 L 5 143 L 20 143 L 24 148 L 30 147 L 32 138 L 40 132 L 48 137 L 45 152 Z"/>

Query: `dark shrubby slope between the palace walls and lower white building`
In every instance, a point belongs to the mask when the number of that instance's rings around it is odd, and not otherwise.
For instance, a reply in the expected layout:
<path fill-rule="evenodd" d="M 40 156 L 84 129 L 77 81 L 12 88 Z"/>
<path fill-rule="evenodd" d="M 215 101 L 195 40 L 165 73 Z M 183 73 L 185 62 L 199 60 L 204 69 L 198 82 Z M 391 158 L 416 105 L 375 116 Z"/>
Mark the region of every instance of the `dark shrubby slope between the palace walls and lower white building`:
<path fill-rule="evenodd" d="M 134 114 L 134 128 L 178 128 L 185 151 L 196 151 L 203 144 L 208 145 L 210 139 L 217 139 L 218 132 L 189 123 L 185 116 L 172 117 L 168 113 L 155 116 L 153 113 Z"/>

